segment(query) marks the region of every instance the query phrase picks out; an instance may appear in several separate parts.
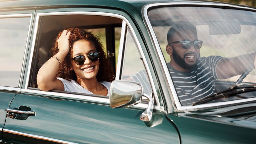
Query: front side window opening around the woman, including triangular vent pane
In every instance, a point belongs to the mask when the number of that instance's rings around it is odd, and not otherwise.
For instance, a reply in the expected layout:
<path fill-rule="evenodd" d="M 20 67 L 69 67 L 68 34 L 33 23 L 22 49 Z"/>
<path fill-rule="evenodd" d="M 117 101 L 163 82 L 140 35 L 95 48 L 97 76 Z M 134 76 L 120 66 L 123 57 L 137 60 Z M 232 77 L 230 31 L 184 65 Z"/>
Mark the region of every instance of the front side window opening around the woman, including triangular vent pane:
<path fill-rule="evenodd" d="M 50 50 L 53 47 L 58 32 L 68 27 L 78 27 L 91 32 L 100 38 L 104 52 L 111 64 L 115 74 L 117 71 L 117 61 L 119 54 L 120 38 L 123 20 L 110 16 L 98 15 L 40 15 L 37 41 L 35 42 L 35 52 L 32 60 L 29 89 L 39 90 L 37 86 L 37 73 L 40 67 L 51 57 Z M 90 19 L 90 21 L 87 21 Z M 100 20 L 100 21 L 99 21 Z M 131 30 L 127 27 L 123 30 L 124 56 L 122 59 L 122 77 L 142 84 L 143 92 L 152 93 L 151 85 L 145 70 L 137 44 L 132 36 Z M 79 95 L 91 95 L 76 92 L 65 92 L 52 90 L 51 92 L 61 92 Z M 96 96 L 108 98 L 108 96 Z"/>

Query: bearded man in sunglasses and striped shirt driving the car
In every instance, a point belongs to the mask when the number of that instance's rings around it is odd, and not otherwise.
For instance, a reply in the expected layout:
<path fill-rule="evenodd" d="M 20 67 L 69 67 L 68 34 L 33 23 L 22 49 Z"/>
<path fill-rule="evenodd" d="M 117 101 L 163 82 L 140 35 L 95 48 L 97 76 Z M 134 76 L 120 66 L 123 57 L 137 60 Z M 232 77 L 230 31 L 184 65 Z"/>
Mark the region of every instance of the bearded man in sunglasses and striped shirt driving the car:
<path fill-rule="evenodd" d="M 182 105 L 196 102 L 215 93 L 215 80 L 243 74 L 255 65 L 255 53 L 233 58 L 200 57 L 203 41 L 198 40 L 193 25 L 175 25 L 167 33 L 167 63 L 176 92 Z M 247 62 L 247 63 L 245 63 Z"/>

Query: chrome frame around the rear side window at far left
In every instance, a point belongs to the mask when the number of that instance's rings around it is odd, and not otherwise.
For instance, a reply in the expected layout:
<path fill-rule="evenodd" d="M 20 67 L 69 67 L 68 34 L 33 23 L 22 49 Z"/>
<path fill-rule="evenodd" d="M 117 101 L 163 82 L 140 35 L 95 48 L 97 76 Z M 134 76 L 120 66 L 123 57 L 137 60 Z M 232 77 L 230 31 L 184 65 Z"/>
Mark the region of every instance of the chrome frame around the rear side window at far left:
<path fill-rule="evenodd" d="M 22 18 L 22 17 L 30 18 L 30 20 L 29 20 L 29 27 L 28 27 L 28 31 L 27 31 L 28 35 L 27 35 L 27 39 L 26 39 L 26 45 L 25 45 L 24 54 L 23 54 L 22 66 L 21 66 L 21 71 L 20 71 L 19 84 L 18 84 L 18 87 L 0 86 L 0 90 L 19 92 L 21 89 L 22 80 L 23 80 L 23 76 L 25 73 L 25 65 L 26 65 L 27 52 L 28 52 L 28 47 L 29 47 L 29 42 L 30 42 L 31 27 L 32 27 L 33 18 L 34 18 L 34 11 L 21 11 L 21 12 L 16 12 L 16 13 L 1 13 L 0 14 L 0 18 Z"/>

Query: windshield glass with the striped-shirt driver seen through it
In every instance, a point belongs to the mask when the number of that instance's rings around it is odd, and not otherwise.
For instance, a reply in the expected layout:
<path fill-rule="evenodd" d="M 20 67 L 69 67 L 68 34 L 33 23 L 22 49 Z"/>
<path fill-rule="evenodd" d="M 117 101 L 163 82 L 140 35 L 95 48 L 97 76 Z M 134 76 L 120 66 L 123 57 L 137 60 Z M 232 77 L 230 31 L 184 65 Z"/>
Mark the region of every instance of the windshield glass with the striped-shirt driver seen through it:
<path fill-rule="evenodd" d="M 256 83 L 256 13 L 212 7 L 162 7 L 148 17 L 181 105 Z M 247 92 L 209 103 L 256 97 Z"/>

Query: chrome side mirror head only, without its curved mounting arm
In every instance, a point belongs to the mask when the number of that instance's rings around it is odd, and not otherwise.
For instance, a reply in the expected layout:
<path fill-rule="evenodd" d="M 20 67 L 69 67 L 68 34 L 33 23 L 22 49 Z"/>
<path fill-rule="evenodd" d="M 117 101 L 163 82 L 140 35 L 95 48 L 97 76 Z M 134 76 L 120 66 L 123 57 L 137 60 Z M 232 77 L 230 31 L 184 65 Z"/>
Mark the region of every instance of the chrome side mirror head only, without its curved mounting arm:
<path fill-rule="evenodd" d="M 110 106 L 128 107 L 141 102 L 142 87 L 135 81 L 115 80 L 110 86 Z"/>

